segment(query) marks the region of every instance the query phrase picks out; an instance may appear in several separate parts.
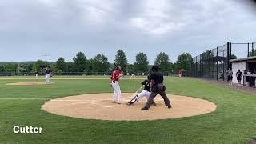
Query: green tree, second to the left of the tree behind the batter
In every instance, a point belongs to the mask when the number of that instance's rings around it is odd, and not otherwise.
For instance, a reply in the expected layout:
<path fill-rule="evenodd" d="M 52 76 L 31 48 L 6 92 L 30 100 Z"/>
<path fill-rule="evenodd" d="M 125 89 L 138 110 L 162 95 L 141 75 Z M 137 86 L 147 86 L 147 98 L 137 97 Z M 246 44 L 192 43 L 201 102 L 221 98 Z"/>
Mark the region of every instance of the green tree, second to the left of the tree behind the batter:
<path fill-rule="evenodd" d="M 86 70 L 86 55 L 83 52 L 78 52 L 73 61 L 76 72 L 84 72 Z"/>

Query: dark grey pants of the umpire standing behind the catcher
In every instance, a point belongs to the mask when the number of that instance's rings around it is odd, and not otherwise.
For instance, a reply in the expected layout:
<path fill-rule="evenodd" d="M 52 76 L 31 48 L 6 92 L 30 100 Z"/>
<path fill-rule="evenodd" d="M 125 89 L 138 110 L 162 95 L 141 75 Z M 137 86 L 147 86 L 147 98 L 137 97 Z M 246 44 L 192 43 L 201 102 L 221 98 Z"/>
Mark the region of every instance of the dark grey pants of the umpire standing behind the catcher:
<path fill-rule="evenodd" d="M 146 108 L 150 108 L 152 102 L 154 102 L 155 96 L 157 96 L 158 94 L 160 94 L 162 96 L 163 100 L 165 101 L 166 106 L 170 106 L 170 100 L 166 96 L 166 91 L 164 90 L 162 83 L 159 83 L 152 87 L 152 92 L 150 94 L 150 98 L 148 98 L 148 100 L 146 102 L 146 106 L 145 106 Z"/>

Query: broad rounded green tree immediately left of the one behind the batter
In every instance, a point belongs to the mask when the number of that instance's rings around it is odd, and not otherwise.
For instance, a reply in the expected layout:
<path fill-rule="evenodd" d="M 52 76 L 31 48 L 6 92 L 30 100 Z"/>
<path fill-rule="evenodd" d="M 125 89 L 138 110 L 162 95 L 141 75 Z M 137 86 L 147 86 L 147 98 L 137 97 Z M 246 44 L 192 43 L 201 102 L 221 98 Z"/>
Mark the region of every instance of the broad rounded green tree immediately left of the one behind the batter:
<path fill-rule="evenodd" d="M 106 72 L 110 68 L 110 62 L 103 54 L 98 54 L 93 59 L 93 70 L 96 72 Z"/>

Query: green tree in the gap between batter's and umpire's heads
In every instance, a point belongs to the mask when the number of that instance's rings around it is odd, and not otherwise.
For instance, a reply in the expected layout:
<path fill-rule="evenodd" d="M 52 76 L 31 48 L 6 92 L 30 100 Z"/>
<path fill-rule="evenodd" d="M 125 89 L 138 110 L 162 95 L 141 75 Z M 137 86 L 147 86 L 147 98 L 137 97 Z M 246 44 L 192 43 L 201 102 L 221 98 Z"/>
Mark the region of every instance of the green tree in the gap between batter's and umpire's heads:
<path fill-rule="evenodd" d="M 136 72 L 147 72 L 149 70 L 149 61 L 146 54 L 140 52 L 136 55 L 136 62 L 134 62 L 134 70 Z"/>

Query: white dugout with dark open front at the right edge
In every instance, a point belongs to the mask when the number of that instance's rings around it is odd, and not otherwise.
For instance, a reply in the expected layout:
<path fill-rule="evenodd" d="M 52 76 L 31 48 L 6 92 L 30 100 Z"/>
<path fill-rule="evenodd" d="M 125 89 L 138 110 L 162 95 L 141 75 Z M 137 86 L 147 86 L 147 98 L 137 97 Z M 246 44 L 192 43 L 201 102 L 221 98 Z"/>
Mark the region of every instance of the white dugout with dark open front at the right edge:
<path fill-rule="evenodd" d="M 236 73 L 241 70 L 243 73 L 242 84 L 244 86 L 255 86 L 256 80 L 256 56 L 230 60 L 232 63 L 233 82 L 238 83 Z"/>

